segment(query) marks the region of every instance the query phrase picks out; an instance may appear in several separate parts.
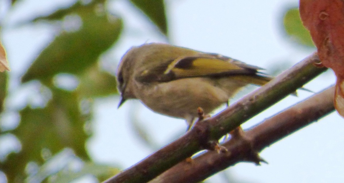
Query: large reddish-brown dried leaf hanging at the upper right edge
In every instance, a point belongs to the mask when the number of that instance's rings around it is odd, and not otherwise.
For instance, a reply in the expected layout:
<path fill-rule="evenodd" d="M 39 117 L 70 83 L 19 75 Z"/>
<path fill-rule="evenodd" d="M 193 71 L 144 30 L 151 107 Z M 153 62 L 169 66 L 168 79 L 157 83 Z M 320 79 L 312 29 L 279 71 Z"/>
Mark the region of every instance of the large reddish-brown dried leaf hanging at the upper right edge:
<path fill-rule="evenodd" d="M 300 17 L 311 33 L 321 65 L 337 77 L 334 103 L 344 117 L 344 1 L 300 0 Z"/>

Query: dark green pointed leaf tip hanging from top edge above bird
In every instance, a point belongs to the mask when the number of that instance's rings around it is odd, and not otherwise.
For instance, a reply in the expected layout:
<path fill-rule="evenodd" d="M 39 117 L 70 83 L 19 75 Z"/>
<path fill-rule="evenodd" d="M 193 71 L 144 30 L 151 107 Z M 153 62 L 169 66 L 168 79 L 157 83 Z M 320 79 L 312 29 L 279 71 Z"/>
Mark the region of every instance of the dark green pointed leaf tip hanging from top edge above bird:
<path fill-rule="evenodd" d="M 158 26 L 160 31 L 168 34 L 165 5 L 163 0 L 130 0 L 138 7 L 147 17 Z"/>

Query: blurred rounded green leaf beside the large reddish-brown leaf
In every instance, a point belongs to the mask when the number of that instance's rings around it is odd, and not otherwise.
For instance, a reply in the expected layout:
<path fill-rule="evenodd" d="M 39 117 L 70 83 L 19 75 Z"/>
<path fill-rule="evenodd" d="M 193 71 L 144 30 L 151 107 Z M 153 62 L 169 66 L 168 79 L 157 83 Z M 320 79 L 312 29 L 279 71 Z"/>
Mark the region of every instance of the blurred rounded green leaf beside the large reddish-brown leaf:
<path fill-rule="evenodd" d="M 309 31 L 302 24 L 298 8 L 291 8 L 284 14 L 283 25 L 292 41 L 305 46 L 314 46 Z"/>

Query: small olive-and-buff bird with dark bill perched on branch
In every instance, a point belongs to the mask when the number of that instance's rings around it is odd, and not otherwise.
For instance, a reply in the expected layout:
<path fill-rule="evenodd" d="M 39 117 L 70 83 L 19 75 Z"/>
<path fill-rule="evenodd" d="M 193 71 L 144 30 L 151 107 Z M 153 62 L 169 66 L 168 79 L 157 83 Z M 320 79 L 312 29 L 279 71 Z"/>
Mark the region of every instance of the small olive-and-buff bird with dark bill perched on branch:
<path fill-rule="evenodd" d="M 272 79 L 259 69 L 218 54 L 143 44 L 127 51 L 119 64 L 119 106 L 137 98 L 155 112 L 184 118 L 190 127 L 198 107 L 209 114 L 245 85 L 264 85 Z"/>

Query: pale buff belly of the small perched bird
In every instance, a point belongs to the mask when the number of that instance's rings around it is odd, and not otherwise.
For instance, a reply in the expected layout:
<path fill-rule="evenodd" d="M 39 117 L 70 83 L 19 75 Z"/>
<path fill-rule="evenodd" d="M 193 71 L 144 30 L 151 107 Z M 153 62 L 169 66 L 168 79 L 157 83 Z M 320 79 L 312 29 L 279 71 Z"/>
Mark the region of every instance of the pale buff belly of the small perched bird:
<path fill-rule="evenodd" d="M 185 78 L 151 85 L 138 84 L 136 94 L 144 105 L 155 112 L 177 117 L 197 117 L 197 108 L 207 114 L 226 103 L 230 97 L 206 78 Z"/>

